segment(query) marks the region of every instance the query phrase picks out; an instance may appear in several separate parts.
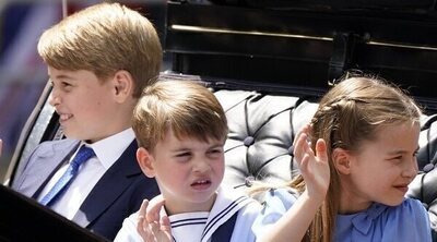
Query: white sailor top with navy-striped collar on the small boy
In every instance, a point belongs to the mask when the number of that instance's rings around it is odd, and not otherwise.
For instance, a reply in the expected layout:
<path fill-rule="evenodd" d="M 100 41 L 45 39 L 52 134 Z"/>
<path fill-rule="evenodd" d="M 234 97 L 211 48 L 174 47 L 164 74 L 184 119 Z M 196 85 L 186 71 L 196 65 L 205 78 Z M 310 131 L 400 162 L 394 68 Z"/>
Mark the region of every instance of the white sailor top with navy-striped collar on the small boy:
<path fill-rule="evenodd" d="M 251 226 L 261 205 L 234 190 L 221 187 L 211 211 L 169 216 L 175 242 L 252 242 Z M 164 209 L 162 213 L 165 213 Z M 115 241 L 143 241 L 137 232 L 138 213 L 125 219 Z"/>

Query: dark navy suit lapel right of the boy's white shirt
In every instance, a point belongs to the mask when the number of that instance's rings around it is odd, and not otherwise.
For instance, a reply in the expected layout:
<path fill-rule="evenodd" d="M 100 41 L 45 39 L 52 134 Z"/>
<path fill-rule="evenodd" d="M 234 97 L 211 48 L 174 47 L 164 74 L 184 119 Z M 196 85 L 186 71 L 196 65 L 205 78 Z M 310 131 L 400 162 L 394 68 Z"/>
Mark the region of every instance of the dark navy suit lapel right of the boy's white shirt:
<path fill-rule="evenodd" d="M 138 145 L 133 141 L 120 158 L 102 177 L 81 205 L 73 221 L 82 227 L 93 222 L 132 183 L 132 174 L 141 173 L 135 159 Z"/>

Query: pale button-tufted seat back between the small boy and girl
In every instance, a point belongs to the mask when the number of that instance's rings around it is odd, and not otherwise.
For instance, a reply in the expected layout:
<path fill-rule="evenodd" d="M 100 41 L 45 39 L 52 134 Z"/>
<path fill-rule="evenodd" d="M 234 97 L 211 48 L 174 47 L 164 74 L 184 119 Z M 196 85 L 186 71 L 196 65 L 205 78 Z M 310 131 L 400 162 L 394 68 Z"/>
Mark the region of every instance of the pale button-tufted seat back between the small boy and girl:
<path fill-rule="evenodd" d="M 248 90 L 217 90 L 227 118 L 224 183 L 244 185 L 249 179 L 283 182 L 297 166 L 291 162 L 295 133 L 309 122 L 317 104 L 293 96 Z"/>

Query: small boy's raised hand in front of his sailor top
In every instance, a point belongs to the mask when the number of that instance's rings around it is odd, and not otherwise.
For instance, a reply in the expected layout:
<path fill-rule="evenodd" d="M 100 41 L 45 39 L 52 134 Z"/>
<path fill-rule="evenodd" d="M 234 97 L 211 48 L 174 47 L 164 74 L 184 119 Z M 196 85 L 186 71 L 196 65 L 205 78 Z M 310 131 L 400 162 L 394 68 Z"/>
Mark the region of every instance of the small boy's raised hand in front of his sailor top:
<path fill-rule="evenodd" d="M 145 242 L 170 242 L 172 231 L 170 221 L 167 216 L 160 218 L 160 211 L 164 206 L 162 196 L 153 198 L 151 202 L 144 199 L 141 204 L 137 231 Z"/>

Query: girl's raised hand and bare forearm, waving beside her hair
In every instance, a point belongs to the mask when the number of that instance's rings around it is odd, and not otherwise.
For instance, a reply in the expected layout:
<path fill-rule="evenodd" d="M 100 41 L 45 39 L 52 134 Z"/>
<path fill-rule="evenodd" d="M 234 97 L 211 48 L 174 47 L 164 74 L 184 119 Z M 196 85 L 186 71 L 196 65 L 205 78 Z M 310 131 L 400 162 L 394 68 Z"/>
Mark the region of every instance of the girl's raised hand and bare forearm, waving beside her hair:
<path fill-rule="evenodd" d="M 317 141 L 316 153 L 314 153 L 308 142 L 310 131 L 311 126 L 305 125 L 293 144 L 294 158 L 304 177 L 306 190 L 274 226 L 269 227 L 269 232 L 262 238 L 257 238 L 257 241 L 302 241 L 324 201 L 330 180 L 327 144 L 323 140 Z"/>

